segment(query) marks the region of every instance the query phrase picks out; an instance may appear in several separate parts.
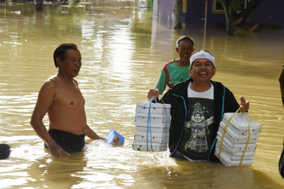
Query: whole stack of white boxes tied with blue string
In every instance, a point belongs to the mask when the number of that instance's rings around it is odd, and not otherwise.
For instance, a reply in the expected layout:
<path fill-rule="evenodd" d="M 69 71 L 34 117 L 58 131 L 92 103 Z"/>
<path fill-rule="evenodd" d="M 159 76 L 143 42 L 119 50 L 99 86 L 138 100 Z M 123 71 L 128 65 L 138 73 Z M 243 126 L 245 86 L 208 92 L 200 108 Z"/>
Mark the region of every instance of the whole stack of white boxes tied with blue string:
<path fill-rule="evenodd" d="M 136 103 L 135 134 L 133 150 L 147 151 L 147 131 L 148 131 L 148 151 L 166 151 L 170 137 L 170 104 L 151 103 L 150 124 L 147 129 L 149 105 L 147 103 Z M 144 106 L 144 107 L 143 107 Z M 152 142 L 152 146 L 151 146 Z"/>

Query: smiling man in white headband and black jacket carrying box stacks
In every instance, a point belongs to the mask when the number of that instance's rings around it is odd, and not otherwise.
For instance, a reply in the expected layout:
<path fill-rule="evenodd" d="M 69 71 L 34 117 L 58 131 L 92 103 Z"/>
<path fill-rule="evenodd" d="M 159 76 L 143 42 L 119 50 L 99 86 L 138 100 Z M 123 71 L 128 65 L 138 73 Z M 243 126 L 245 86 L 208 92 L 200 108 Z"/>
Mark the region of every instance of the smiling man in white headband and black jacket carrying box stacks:
<path fill-rule="evenodd" d="M 174 84 L 159 101 L 171 104 L 170 157 L 216 162 L 214 139 L 222 113 L 237 111 L 239 104 L 228 88 L 211 80 L 216 73 L 212 54 L 196 52 L 190 63 L 191 78 Z M 247 111 L 249 102 L 240 99 L 241 110 Z"/>

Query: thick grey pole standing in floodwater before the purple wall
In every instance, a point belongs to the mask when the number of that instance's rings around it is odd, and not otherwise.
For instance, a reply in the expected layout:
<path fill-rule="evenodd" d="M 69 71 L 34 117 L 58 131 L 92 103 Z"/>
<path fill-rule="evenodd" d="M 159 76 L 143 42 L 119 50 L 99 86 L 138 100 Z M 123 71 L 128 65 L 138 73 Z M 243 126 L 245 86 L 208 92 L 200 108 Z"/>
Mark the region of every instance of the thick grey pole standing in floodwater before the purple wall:
<path fill-rule="evenodd" d="M 172 14 L 173 28 L 182 28 L 182 0 L 174 0 L 174 9 Z"/>

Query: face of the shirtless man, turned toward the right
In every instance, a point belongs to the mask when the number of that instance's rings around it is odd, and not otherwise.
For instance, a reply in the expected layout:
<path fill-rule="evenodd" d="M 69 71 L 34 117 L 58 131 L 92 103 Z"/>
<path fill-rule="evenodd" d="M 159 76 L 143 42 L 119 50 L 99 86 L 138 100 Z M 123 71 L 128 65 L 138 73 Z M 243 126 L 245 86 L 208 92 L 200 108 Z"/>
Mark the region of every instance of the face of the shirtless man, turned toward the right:
<path fill-rule="evenodd" d="M 81 53 L 79 50 L 68 49 L 66 51 L 66 58 L 62 60 L 57 57 L 56 60 L 59 64 L 60 70 L 66 75 L 74 78 L 78 76 L 78 73 L 82 66 L 81 59 Z"/>

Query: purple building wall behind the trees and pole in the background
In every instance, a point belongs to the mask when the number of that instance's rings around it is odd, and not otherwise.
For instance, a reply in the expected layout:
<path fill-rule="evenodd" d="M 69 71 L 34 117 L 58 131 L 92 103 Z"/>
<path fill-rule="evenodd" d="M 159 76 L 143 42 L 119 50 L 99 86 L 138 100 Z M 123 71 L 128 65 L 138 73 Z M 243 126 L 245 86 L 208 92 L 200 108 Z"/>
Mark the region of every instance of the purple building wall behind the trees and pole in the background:
<path fill-rule="evenodd" d="M 252 1 L 252 0 L 251 0 Z M 154 0 L 153 14 L 158 15 L 159 23 L 172 26 L 173 0 Z M 251 23 L 284 26 L 284 0 L 263 0 L 254 9 L 255 16 Z M 187 25 L 204 25 L 205 0 L 187 0 Z M 222 13 L 212 13 L 212 0 L 207 1 L 207 26 L 225 23 L 226 17 Z"/>

